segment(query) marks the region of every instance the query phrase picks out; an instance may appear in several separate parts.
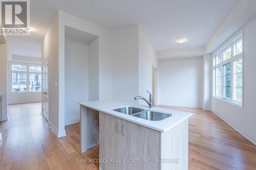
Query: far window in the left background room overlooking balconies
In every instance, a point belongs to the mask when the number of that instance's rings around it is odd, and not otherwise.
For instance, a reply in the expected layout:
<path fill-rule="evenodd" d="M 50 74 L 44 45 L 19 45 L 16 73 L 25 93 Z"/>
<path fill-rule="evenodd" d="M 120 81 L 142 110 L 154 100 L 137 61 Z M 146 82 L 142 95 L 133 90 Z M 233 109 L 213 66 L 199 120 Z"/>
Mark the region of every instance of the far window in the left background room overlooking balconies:
<path fill-rule="evenodd" d="M 11 65 L 12 92 L 41 91 L 41 67 L 35 65 Z"/>

